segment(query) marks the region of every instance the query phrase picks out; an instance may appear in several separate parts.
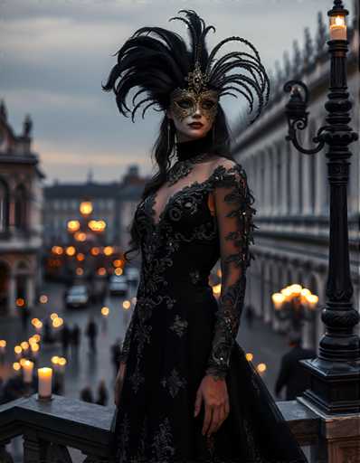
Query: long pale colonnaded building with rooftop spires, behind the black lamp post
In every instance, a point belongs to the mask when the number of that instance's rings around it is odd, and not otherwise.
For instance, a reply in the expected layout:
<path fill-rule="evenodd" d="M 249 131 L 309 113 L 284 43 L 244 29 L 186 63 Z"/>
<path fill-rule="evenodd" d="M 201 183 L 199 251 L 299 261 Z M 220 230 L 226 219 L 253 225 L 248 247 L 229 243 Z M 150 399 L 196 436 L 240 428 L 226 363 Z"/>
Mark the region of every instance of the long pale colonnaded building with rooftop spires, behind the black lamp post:
<path fill-rule="evenodd" d="M 351 126 L 359 129 L 359 33 L 357 0 L 354 2 L 354 22 L 348 26 L 349 53 L 347 54 L 348 88 L 354 101 Z M 326 149 L 314 156 L 307 156 L 285 140 L 288 124 L 285 105 L 286 81 L 303 80 L 310 92 L 308 128 L 298 130 L 300 144 L 311 147 L 316 131 L 325 121 L 329 86 L 329 54 L 327 52 L 327 26 L 318 15 L 318 30 L 312 40 L 305 31 L 305 47 L 299 50 L 294 41 L 293 60 L 284 53 L 284 64 L 277 63 L 276 76 L 271 75 L 271 99 L 254 124 L 246 128 L 242 118 L 237 128 L 233 156 L 245 168 L 249 186 L 255 196 L 257 210 L 254 231 L 256 259 L 249 269 L 246 297 L 259 317 L 275 330 L 281 329 L 272 307 L 271 294 L 291 283 L 307 287 L 319 298 L 318 306 L 326 301 L 328 233 L 329 233 L 329 186 L 327 181 Z M 304 136 L 306 137 L 304 139 Z M 348 218 L 351 273 L 354 285 L 354 306 L 359 308 L 359 145 L 350 145 L 348 183 Z M 303 329 L 305 347 L 317 348 L 323 335 L 320 310 L 315 323 L 306 322 Z M 359 326 L 357 326 L 359 329 Z"/>

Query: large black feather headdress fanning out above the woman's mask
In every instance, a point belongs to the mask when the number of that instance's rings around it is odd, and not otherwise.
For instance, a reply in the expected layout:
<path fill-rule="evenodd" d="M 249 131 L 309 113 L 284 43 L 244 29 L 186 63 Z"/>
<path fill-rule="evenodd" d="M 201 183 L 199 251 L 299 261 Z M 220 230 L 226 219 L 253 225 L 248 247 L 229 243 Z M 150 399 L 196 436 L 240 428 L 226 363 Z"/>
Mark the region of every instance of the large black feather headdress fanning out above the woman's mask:
<path fill-rule="evenodd" d="M 169 21 L 179 20 L 186 24 L 190 47 L 177 33 L 161 27 L 141 27 L 113 55 L 118 55 L 118 63 L 110 71 L 102 89 L 114 90 L 118 110 L 125 117 L 131 113 L 132 121 L 137 109 L 143 105 L 142 118 L 153 105 L 157 111 L 166 110 L 176 89 L 216 90 L 219 97 L 232 95 L 235 98 L 237 92 L 247 100 L 249 112 L 254 111 L 255 99 L 258 101 L 252 124 L 267 104 L 270 93 L 270 81 L 256 48 L 246 39 L 232 36 L 218 43 L 209 53 L 205 37 L 210 30 L 215 32 L 213 25 L 206 26 L 193 10 L 178 13 L 184 13 L 185 17 L 175 16 Z M 250 50 L 229 52 L 217 58 L 223 45 L 231 42 L 242 43 Z M 128 92 L 136 88 L 130 110 Z"/>

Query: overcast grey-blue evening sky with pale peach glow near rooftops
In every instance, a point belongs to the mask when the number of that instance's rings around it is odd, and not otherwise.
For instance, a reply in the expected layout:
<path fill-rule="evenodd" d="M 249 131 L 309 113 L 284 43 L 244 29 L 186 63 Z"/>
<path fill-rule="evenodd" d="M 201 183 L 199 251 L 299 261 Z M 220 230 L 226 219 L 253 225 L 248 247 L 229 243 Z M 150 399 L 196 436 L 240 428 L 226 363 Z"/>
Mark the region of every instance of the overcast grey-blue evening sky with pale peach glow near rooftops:
<path fill-rule="evenodd" d="M 111 54 L 137 28 L 158 25 L 187 38 L 185 24 L 168 23 L 181 8 L 194 9 L 223 38 L 240 35 L 253 43 L 270 71 L 289 50 L 312 36 L 317 12 L 327 21 L 331 0 L 0 0 L 0 99 L 5 99 L 15 133 L 24 115 L 33 118 L 33 151 L 41 159 L 45 184 L 118 180 L 137 163 L 141 175 L 154 172 L 150 159 L 160 115 L 137 112 L 123 118 L 112 93 L 101 90 L 116 57 Z M 349 1 L 346 7 L 351 9 Z M 224 52 L 232 47 L 223 47 Z M 222 99 L 230 123 L 239 99 Z"/>

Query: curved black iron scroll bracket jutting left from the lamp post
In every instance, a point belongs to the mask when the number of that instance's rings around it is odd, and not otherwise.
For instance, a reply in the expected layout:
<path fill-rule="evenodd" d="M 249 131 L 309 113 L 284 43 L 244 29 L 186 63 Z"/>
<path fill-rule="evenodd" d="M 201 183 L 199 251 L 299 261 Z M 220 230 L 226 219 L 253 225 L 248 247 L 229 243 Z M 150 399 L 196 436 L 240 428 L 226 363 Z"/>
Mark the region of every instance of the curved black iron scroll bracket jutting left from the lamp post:
<path fill-rule="evenodd" d="M 303 90 L 304 97 L 300 90 Z M 284 91 L 290 93 L 289 103 L 286 105 L 286 115 L 289 124 L 289 134 L 286 139 L 292 141 L 293 145 L 298 149 L 300 153 L 304 155 L 315 155 L 325 146 L 325 137 L 322 133 L 325 130 L 329 130 L 329 126 L 324 126 L 317 130 L 317 135 L 312 138 L 317 146 L 314 148 L 304 148 L 299 145 L 297 130 L 304 130 L 308 127 L 308 87 L 301 80 L 289 80 L 284 85 Z"/>

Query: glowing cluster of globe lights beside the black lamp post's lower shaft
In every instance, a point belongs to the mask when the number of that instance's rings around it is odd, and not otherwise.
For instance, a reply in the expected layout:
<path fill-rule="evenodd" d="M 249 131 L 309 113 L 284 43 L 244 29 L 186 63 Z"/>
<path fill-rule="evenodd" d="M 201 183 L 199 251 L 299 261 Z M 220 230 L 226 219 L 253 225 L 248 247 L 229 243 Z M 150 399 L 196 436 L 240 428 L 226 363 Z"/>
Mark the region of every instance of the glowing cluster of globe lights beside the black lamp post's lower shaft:
<path fill-rule="evenodd" d="M 301 285 L 290 285 L 271 295 L 279 320 L 289 320 L 293 331 L 299 332 L 305 320 L 313 321 L 317 296 Z"/>

